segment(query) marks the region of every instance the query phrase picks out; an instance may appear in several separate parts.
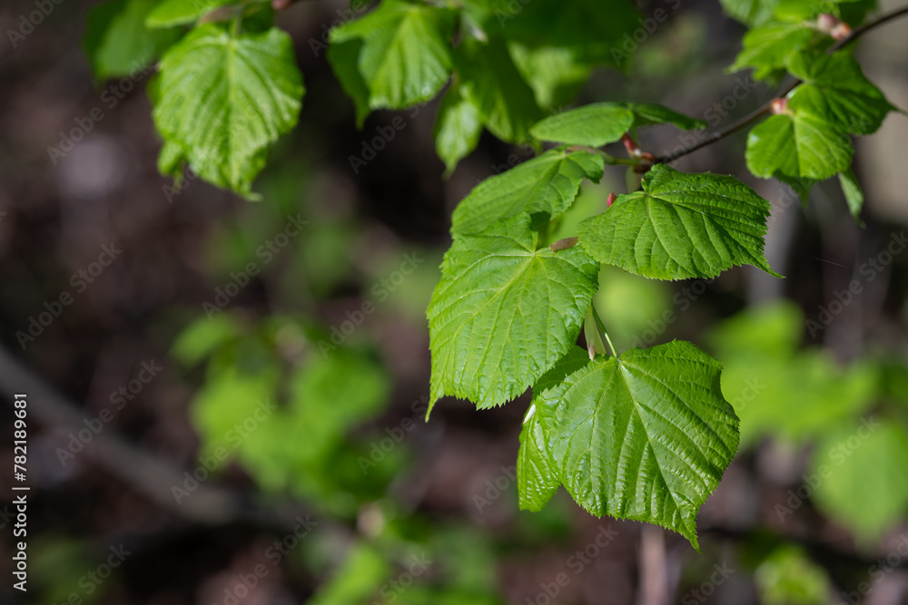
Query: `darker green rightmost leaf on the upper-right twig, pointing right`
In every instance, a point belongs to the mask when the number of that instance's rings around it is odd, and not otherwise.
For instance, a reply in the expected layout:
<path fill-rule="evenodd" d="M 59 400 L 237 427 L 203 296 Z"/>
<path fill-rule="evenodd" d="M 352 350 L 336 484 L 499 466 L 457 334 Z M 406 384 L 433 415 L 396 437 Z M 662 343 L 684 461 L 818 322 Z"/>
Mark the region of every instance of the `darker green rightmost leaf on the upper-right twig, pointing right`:
<path fill-rule="evenodd" d="M 792 100 L 810 96 L 810 103 L 822 107 L 827 121 L 844 131 L 872 134 L 879 130 L 886 114 L 895 109 L 867 80 L 851 54 L 795 54 L 788 71 L 804 81 Z"/>

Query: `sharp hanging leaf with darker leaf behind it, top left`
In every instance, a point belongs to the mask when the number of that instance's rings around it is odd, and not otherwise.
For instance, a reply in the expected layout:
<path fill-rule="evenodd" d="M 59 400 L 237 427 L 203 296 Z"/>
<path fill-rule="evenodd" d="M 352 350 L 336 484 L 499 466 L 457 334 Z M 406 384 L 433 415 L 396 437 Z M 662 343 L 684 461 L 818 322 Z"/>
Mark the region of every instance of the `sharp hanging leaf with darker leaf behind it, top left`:
<path fill-rule="evenodd" d="M 94 9 L 85 45 L 99 78 L 134 75 L 161 57 L 148 90 L 164 174 L 179 180 L 188 165 L 252 197 L 305 93 L 291 37 L 273 27 L 272 13 L 263 0 L 114 0 Z"/>

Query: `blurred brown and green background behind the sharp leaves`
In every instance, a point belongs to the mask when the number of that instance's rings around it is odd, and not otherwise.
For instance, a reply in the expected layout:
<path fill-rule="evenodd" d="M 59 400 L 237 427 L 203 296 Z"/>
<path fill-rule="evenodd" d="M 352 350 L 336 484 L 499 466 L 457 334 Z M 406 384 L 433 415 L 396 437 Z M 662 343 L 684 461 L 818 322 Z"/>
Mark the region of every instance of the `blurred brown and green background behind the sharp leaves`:
<path fill-rule="evenodd" d="M 438 101 L 357 131 L 320 46 L 347 5 L 318 0 L 278 22 L 308 91 L 256 183 L 262 201 L 192 175 L 177 186 L 156 170 L 151 71 L 94 79 L 82 45 L 97 4 L 54 0 L 25 39 L 0 39 L 0 467 L 25 392 L 31 487 L 24 594 L 15 482 L 0 473 L 0 602 L 908 602 L 904 116 L 857 142 L 863 225 L 835 181 L 802 208 L 751 177 L 744 133 L 676 163 L 773 202 L 767 257 L 785 279 L 602 271 L 597 307 L 619 348 L 686 338 L 725 366 L 742 447 L 701 512 L 697 554 L 563 491 L 519 512 L 528 395 L 483 412 L 444 400 L 424 422 L 424 312 L 450 212 L 530 151 L 487 133 L 444 178 Z M 598 71 L 568 98 L 661 102 L 720 126 L 771 97 L 725 73 L 745 30 L 716 1 L 641 6 L 660 8 L 669 19 L 628 73 Z M 0 31 L 33 11 L 6 0 Z M 889 24 L 858 52 L 901 107 L 906 32 Z M 396 116 L 403 128 L 373 149 Z M 656 128 L 642 146 L 691 136 Z M 616 170 L 583 190 L 563 237 L 624 187 Z"/>

